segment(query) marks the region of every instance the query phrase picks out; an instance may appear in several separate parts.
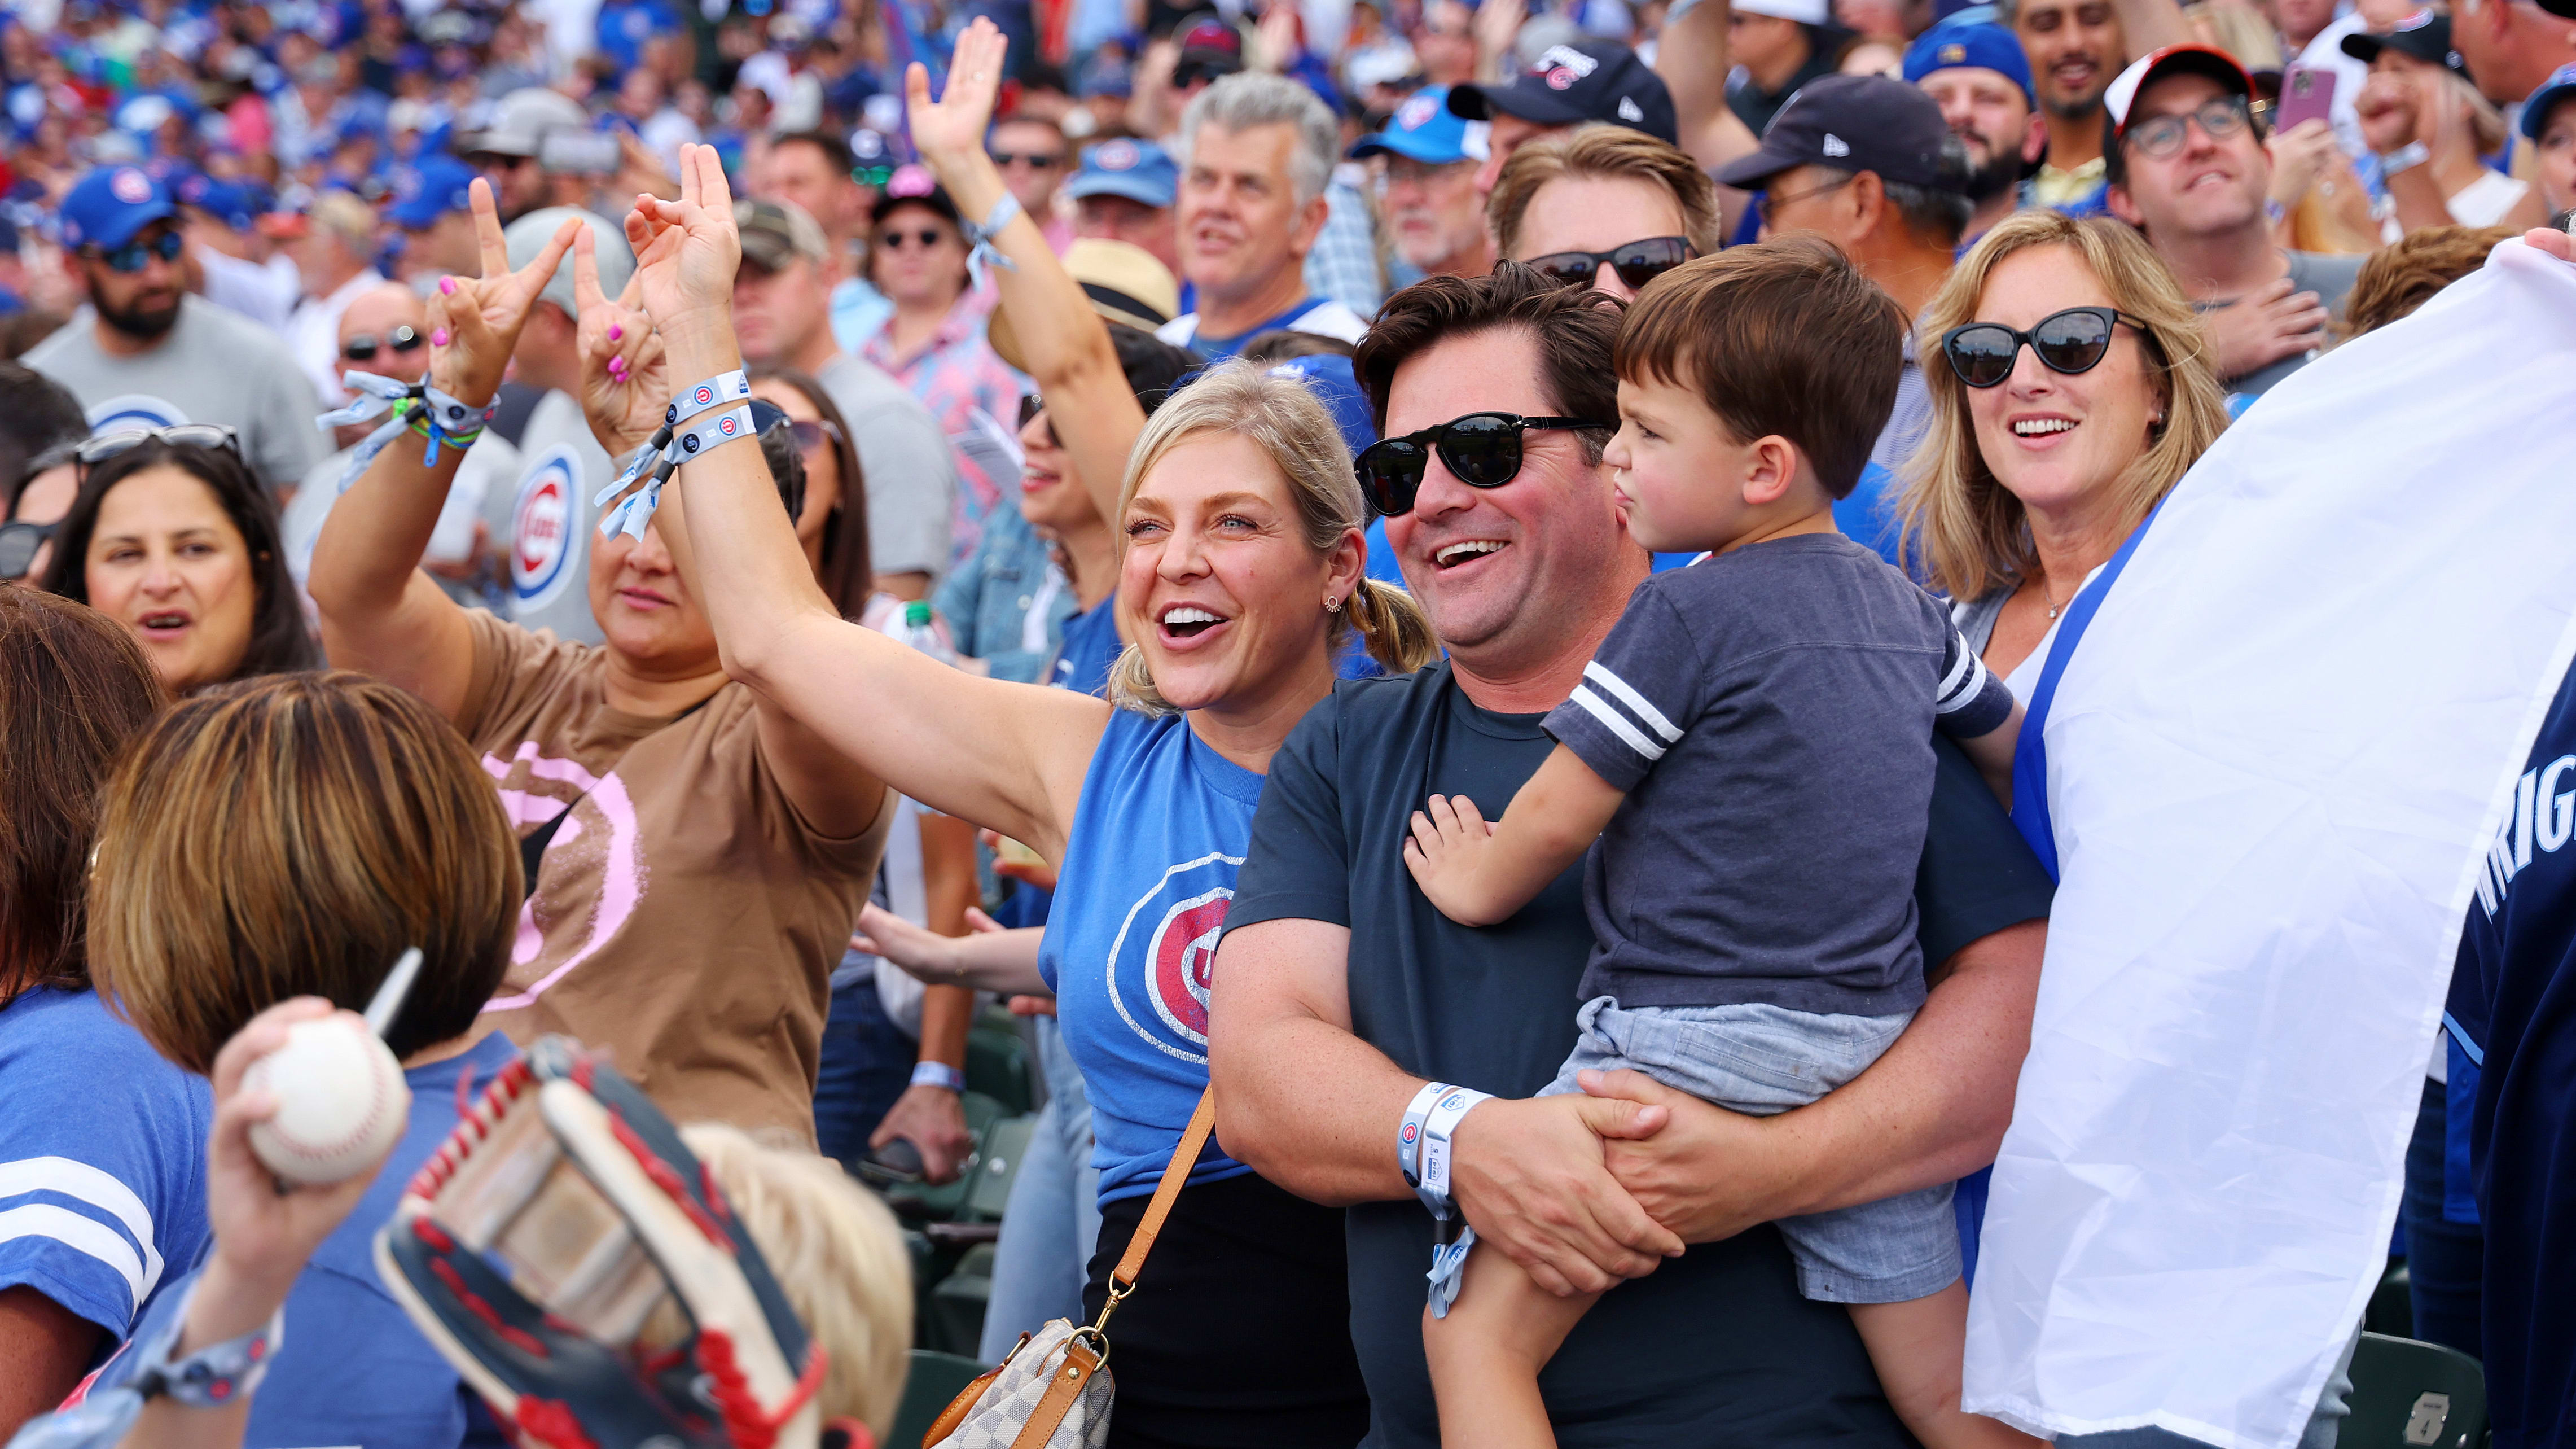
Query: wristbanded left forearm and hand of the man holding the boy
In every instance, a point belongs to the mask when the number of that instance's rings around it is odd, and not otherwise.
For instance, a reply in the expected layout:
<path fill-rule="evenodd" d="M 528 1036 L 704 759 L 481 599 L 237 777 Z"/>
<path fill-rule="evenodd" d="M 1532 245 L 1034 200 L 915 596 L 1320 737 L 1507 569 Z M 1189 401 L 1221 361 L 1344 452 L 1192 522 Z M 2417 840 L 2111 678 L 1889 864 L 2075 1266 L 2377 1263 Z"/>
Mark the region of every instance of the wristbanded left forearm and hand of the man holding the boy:
<path fill-rule="evenodd" d="M 1347 926 L 1262 920 L 1226 933 L 1208 998 L 1216 1137 L 1309 1201 L 1412 1199 L 1396 1127 L 1422 1078 L 1352 1034 L 1347 980 Z M 1664 1116 L 1600 1106 L 1628 1104 L 1486 1101 L 1458 1124 L 1458 1204 L 1479 1238 L 1553 1294 L 1602 1292 L 1680 1250 L 1602 1168 L 1602 1137 L 1651 1134 Z"/>

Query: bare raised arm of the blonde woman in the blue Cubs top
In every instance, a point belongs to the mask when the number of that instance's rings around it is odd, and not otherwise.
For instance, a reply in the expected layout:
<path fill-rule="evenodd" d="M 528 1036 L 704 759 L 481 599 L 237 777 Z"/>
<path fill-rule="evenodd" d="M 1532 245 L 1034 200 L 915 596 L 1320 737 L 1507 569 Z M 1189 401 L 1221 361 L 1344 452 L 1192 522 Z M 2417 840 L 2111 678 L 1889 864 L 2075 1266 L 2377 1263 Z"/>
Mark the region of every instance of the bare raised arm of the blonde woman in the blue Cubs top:
<path fill-rule="evenodd" d="M 683 150 L 680 193 L 639 196 L 626 240 L 667 369 L 685 384 L 742 366 L 742 240 L 714 147 Z M 757 449 L 716 446 L 693 459 L 654 518 L 706 606 L 729 676 L 912 799 L 1061 853 L 1108 704 L 976 678 L 842 621 Z"/>

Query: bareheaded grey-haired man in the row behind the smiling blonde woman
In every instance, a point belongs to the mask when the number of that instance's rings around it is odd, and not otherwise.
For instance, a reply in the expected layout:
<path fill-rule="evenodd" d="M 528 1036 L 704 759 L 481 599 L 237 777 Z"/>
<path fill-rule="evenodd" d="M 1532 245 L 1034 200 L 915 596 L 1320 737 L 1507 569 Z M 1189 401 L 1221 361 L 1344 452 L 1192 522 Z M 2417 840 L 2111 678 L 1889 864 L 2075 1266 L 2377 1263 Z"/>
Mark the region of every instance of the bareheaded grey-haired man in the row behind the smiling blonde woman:
<path fill-rule="evenodd" d="M 1306 291 L 1306 253 L 1324 229 L 1324 183 L 1342 131 L 1314 90 L 1280 75 L 1229 75 L 1180 116 L 1180 276 L 1198 309 L 1157 335 L 1231 358 L 1288 327 L 1358 343 L 1368 322 Z"/>

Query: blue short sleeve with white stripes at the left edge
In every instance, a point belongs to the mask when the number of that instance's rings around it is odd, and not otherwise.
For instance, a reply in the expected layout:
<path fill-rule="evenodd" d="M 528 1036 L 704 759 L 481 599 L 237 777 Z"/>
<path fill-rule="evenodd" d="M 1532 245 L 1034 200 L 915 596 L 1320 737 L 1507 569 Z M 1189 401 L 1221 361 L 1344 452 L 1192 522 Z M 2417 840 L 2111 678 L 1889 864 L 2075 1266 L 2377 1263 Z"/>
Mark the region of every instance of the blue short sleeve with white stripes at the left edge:
<path fill-rule="evenodd" d="M 206 1078 L 90 990 L 0 1008 L 0 1289 L 126 1338 L 206 1245 Z"/>

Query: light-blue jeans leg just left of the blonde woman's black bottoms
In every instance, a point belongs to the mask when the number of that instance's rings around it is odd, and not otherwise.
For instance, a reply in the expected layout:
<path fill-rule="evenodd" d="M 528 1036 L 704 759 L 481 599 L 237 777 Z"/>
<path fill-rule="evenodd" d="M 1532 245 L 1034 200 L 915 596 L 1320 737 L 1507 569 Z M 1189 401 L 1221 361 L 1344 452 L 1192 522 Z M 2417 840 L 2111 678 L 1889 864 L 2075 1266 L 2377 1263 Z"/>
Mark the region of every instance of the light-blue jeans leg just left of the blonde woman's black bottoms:
<path fill-rule="evenodd" d="M 1046 1106 L 1020 1155 L 992 1248 L 992 1297 L 976 1356 L 999 1364 L 1023 1333 L 1054 1318 L 1082 1323 L 1082 1284 L 1100 1240 L 1100 1168 L 1092 1165 L 1092 1104 L 1054 1016 L 1038 1016 Z"/>

